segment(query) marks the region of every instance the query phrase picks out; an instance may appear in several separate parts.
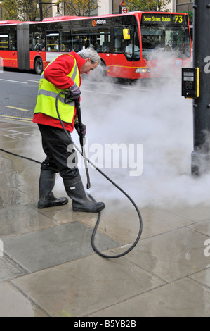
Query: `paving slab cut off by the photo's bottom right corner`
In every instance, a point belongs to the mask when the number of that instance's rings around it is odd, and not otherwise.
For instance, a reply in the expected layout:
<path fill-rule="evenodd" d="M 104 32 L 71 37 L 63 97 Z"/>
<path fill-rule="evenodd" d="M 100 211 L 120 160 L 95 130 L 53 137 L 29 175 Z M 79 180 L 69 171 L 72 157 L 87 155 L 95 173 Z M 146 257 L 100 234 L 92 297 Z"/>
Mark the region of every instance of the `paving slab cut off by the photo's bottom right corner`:
<path fill-rule="evenodd" d="M 89 317 L 209 317 L 209 302 L 209 288 L 183 278 L 97 311 Z"/>

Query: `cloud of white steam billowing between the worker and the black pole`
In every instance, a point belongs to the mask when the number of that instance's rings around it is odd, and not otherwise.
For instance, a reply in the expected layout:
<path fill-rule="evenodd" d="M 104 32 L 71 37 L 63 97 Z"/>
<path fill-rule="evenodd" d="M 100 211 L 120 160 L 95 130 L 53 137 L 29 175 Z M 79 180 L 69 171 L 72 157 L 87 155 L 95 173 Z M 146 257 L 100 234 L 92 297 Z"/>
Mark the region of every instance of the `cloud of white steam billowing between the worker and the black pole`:
<path fill-rule="evenodd" d="M 144 87 L 138 82 L 124 85 L 123 95 L 114 97 L 119 89 L 102 82 L 100 91 L 111 92 L 110 98 L 109 94 L 87 92 L 91 82 L 81 88 L 89 144 L 143 144 L 143 173 L 139 177 L 129 177 L 129 169 L 102 170 L 138 206 L 210 204 L 210 175 L 191 176 L 192 101 L 181 96 L 181 83 L 165 80 L 153 85 L 151 80 L 151 86 L 148 82 Z M 101 199 L 114 199 L 116 190 L 96 170 L 90 171 L 94 192 L 98 191 Z"/>

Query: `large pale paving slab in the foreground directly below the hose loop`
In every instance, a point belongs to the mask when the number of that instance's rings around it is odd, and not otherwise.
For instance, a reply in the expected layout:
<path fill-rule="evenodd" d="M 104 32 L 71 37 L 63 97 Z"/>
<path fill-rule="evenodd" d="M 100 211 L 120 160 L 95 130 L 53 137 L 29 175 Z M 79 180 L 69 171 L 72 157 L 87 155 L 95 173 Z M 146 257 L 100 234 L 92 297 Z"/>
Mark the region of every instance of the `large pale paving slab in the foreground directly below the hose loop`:
<path fill-rule="evenodd" d="M 54 317 L 63 316 L 64 312 L 73 317 L 87 316 L 164 284 L 124 258 L 114 261 L 97 255 L 26 275 L 12 282 Z"/>

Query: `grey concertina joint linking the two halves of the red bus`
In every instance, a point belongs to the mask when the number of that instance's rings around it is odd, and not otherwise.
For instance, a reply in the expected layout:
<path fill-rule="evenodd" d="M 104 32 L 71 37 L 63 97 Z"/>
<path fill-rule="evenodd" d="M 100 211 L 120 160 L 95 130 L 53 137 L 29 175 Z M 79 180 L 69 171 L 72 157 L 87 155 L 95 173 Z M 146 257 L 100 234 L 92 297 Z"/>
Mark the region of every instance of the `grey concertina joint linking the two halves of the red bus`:
<path fill-rule="evenodd" d="M 18 69 L 29 70 L 29 24 L 17 25 Z"/>

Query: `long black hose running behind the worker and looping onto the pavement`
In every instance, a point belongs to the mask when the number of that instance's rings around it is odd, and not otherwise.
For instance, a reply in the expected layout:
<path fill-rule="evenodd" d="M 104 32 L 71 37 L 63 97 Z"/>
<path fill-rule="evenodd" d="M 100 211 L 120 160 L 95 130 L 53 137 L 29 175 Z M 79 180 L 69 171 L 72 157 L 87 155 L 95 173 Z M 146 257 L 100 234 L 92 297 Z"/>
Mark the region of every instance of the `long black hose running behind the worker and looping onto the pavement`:
<path fill-rule="evenodd" d="M 70 103 L 70 102 L 72 102 L 72 101 L 69 100 L 69 99 L 67 98 L 67 96 L 70 96 L 70 94 L 69 94 L 68 92 L 67 92 L 67 93 L 66 93 L 66 92 L 60 92 L 60 93 L 57 95 L 57 97 L 56 97 L 56 101 L 55 101 L 56 111 L 57 111 L 57 113 L 58 113 L 58 118 L 59 118 L 59 120 L 60 120 L 60 124 L 62 125 L 63 130 L 65 131 L 65 134 L 66 134 L 67 137 L 70 139 L 70 143 L 74 145 L 75 149 L 77 149 L 77 151 L 79 152 L 79 154 L 81 154 L 81 156 L 83 156 L 83 158 L 84 158 L 85 161 L 87 161 L 88 163 L 90 163 L 90 164 L 93 166 L 93 168 L 95 168 L 95 169 L 98 171 L 98 173 L 100 173 L 101 175 L 103 175 L 103 177 L 105 177 L 105 178 L 106 178 L 106 179 L 107 179 L 112 185 L 114 185 L 115 187 L 117 187 L 117 189 L 119 189 L 119 191 L 122 192 L 122 194 L 124 194 L 124 195 L 127 197 L 127 199 L 129 199 L 129 200 L 131 201 L 131 204 L 133 204 L 133 206 L 134 206 L 134 208 L 136 209 L 136 212 L 137 212 L 137 214 L 138 214 L 138 219 L 139 219 L 139 230 L 138 230 L 138 236 L 136 237 L 135 242 L 133 242 L 133 244 L 129 247 L 129 249 L 127 249 L 127 250 L 124 251 L 123 253 L 110 256 L 110 255 L 106 255 L 106 254 L 101 253 L 101 252 L 97 249 L 97 247 L 96 247 L 96 245 L 95 245 L 95 237 L 96 237 L 96 232 L 97 232 L 97 229 L 98 229 L 98 225 L 99 225 L 99 223 L 100 223 L 101 211 L 98 213 L 98 219 L 97 219 L 97 221 L 96 221 L 96 225 L 95 225 L 95 227 L 94 227 L 94 229 L 93 229 L 93 233 L 92 233 L 92 236 L 91 236 L 91 246 L 92 246 L 92 248 L 93 248 L 93 251 L 95 251 L 98 255 L 102 256 L 103 258 L 120 258 L 120 257 L 122 257 L 122 256 L 124 256 L 124 255 L 126 255 L 126 254 L 128 254 L 128 253 L 129 253 L 129 252 L 130 252 L 130 251 L 136 246 L 136 244 L 138 244 L 138 241 L 139 241 L 139 239 L 140 239 L 140 236 L 141 236 L 141 234 L 142 234 L 142 230 L 143 230 L 143 220 L 142 220 L 142 217 L 141 217 L 141 215 L 140 215 L 140 211 L 139 211 L 138 207 L 136 206 L 135 202 L 133 201 L 133 199 L 131 199 L 131 197 L 130 197 L 126 192 L 124 192 L 124 190 L 123 190 L 121 187 L 119 187 L 115 182 L 113 182 L 113 181 L 110 179 L 110 177 L 107 177 L 107 175 L 105 175 L 105 173 L 103 173 L 98 167 L 96 167 L 96 165 L 94 165 L 94 163 L 92 163 L 90 160 L 88 160 L 88 158 L 86 158 L 86 156 L 84 155 L 83 151 L 80 151 L 79 148 L 77 147 L 77 145 L 74 144 L 72 138 L 70 137 L 70 134 L 67 132 L 67 130 L 65 130 L 65 126 L 63 125 L 63 121 L 61 120 L 61 118 L 60 118 L 60 113 L 59 113 L 59 111 L 58 111 L 58 99 L 59 99 L 59 97 L 60 97 L 61 94 L 65 95 L 65 102 L 66 102 L 66 103 Z M 74 101 L 75 101 L 75 99 L 74 99 Z M 75 105 L 75 106 L 77 107 L 78 105 Z M 80 108 L 80 107 L 79 107 L 79 108 Z M 80 116 L 81 116 L 81 109 L 79 109 L 79 111 L 80 111 Z M 78 115 L 78 114 L 77 114 L 77 115 Z M 80 117 L 80 120 L 81 120 L 81 117 Z M 81 123 L 82 123 L 82 122 L 81 122 Z M 6 151 L 5 149 L 0 149 L 0 151 L 4 151 L 4 153 L 11 154 L 11 155 L 13 155 L 13 156 L 18 156 L 19 158 L 25 158 L 26 160 L 29 160 L 29 161 L 32 161 L 32 162 L 35 162 L 35 163 L 39 163 L 39 164 L 41 164 L 41 162 L 36 161 L 36 160 L 34 160 L 33 158 L 27 158 L 26 156 L 21 156 L 21 155 L 19 155 L 19 154 L 15 154 L 15 153 L 12 153 L 12 152 L 10 152 L 10 151 Z M 87 168 L 87 167 L 86 167 L 86 168 Z M 92 197 L 90 194 L 88 194 L 88 196 L 89 196 L 90 199 L 92 199 L 94 202 L 96 202 L 96 200 L 93 199 L 93 197 Z"/>

